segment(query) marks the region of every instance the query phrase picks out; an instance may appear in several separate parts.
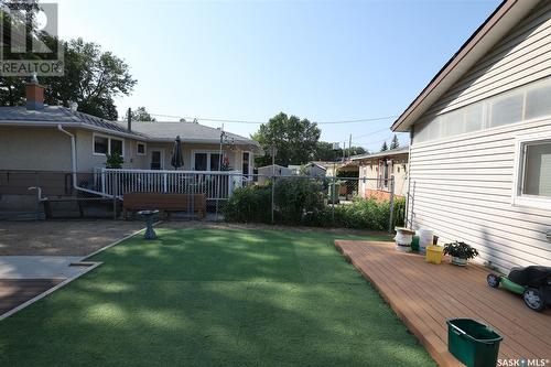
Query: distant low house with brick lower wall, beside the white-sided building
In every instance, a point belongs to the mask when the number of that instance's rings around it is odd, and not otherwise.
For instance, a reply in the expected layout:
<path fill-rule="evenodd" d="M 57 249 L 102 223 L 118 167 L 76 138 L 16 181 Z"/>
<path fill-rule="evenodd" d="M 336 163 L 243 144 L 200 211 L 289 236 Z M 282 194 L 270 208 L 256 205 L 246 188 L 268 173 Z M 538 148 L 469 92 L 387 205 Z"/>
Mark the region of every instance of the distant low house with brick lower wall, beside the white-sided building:
<path fill-rule="evenodd" d="M 390 179 L 395 180 L 395 195 L 408 193 L 409 147 L 374 154 L 350 156 L 359 165 L 358 195 L 361 197 L 390 198 Z"/>

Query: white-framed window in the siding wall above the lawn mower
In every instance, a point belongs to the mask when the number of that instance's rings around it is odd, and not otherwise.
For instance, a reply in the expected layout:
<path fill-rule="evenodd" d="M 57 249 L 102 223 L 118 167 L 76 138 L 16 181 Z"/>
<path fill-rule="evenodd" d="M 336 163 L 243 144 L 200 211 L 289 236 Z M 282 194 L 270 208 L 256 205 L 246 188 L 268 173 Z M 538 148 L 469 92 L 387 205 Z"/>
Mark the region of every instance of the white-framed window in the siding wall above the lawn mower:
<path fill-rule="evenodd" d="M 551 207 L 551 134 L 517 140 L 514 204 Z"/>

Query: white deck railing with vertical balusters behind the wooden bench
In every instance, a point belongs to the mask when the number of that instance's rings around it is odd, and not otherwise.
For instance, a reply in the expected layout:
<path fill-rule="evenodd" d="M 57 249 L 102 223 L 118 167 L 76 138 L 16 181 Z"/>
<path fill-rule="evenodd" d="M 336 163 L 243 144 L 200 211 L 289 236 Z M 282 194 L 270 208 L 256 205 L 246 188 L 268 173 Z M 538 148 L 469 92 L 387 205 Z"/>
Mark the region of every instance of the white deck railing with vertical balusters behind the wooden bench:
<path fill-rule="evenodd" d="M 226 199 L 242 186 L 240 171 L 155 171 L 96 169 L 98 191 L 108 196 L 126 193 L 205 193 L 207 199 Z"/>

